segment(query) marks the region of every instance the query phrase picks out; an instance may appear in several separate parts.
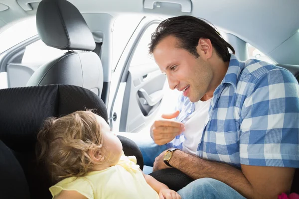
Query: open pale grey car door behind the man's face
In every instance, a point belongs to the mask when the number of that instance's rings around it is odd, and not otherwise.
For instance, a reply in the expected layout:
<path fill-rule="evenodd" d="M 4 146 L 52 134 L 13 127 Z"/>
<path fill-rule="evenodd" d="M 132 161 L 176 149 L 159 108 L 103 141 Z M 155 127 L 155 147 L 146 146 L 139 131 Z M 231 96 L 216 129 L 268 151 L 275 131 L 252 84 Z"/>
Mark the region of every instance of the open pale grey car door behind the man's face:
<path fill-rule="evenodd" d="M 166 76 L 149 55 L 148 44 L 160 22 L 149 17 L 140 22 L 112 74 L 109 115 L 113 131 L 139 132 L 158 113 Z M 119 81 L 113 85 L 116 78 Z"/>

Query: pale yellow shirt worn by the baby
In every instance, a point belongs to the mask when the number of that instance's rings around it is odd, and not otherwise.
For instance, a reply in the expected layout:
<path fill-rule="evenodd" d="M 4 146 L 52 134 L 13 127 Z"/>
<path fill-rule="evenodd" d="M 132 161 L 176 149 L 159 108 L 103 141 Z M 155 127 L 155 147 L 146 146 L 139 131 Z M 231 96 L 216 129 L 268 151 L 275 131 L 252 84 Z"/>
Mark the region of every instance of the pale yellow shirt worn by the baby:
<path fill-rule="evenodd" d="M 123 154 L 115 166 L 84 177 L 66 178 L 49 190 L 53 198 L 62 190 L 75 190 L 88 199 L 158 199 L 136 163 L 135 156 Z"/>

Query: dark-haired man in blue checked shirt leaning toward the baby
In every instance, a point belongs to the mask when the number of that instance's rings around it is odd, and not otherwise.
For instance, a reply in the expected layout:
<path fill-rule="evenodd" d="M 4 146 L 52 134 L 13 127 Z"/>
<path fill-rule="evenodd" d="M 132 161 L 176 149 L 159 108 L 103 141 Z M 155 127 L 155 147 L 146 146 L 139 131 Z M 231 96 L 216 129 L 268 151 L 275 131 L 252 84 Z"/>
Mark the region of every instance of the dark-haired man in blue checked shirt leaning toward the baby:
<path fill-rule="evenodd" d="M 240 62 L 228 48 L 234 53 L 201 19 L 161 22 L 149 52 L 182 92 L 179 111 L 153 123 L 155 144 L 135 141 L 153 171 L 173 167 L 197 179 L 182 198 L 274 199 L 290 192 L 299 168 L 299 85 L 286 69 Z"/>

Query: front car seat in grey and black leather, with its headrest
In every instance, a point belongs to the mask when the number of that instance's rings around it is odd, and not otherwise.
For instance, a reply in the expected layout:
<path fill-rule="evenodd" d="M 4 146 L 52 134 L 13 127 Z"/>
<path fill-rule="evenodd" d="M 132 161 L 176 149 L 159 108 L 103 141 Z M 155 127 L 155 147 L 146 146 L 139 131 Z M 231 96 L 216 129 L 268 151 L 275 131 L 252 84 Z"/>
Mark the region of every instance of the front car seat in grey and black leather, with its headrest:
<path fill-rule="evenodd" d="M 47 46 L 68 52 L 40 66 L 26 86 L 75 85 L 101 97 L 102 62 L 92 52 L 95 40 L 79 10 L 67 0 L 42 0 L 36 12 L 36 27 Z"/>

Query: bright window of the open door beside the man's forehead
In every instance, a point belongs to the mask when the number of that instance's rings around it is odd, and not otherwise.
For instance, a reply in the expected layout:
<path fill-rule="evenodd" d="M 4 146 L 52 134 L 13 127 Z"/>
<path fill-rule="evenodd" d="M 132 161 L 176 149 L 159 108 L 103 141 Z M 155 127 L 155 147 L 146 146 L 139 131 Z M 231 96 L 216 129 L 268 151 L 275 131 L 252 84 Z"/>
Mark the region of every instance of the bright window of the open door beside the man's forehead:
<path fill-rule="evenodd" d="M 132 57 L 130 67 L 155 63 L 153 57 L 149 55 L 149 42 L 151 39 L 150 36 L 155 31 L 157 26 L 158 24 L 156 23 L 151 24 L 143 33 Z"/>

